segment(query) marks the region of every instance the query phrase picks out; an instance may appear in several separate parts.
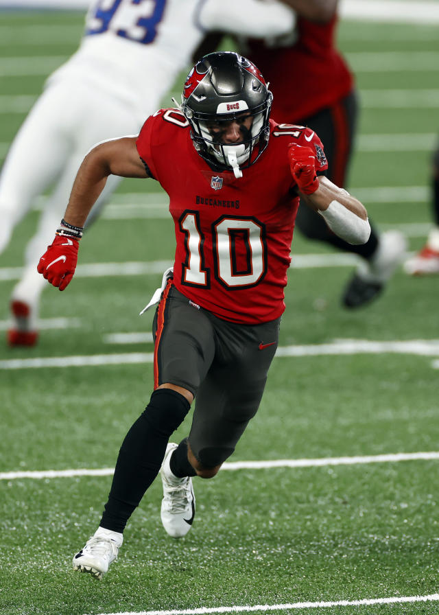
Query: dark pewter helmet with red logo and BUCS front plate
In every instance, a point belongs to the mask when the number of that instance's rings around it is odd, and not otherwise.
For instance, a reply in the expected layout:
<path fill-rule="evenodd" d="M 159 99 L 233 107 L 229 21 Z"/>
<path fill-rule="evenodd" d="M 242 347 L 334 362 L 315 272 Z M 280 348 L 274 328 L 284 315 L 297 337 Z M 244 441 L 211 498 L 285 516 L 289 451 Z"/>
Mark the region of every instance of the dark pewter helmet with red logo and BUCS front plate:
<path fill-rule="evenodd" d="M 256 162 L 268 145 L 272 98 L 261 72 L 247 58 L 233 51 L 201 58 L 187 76 L 182 93 L 182 111 L 200 156 L 215 170 L 231 167 L 241 177 L 241 168 Z M 222 143 L 221 123 L 249 115 L 250 128 L 239 128 L 242 140 Z M 252 155 L 255 146 L 256 156 Z"/>

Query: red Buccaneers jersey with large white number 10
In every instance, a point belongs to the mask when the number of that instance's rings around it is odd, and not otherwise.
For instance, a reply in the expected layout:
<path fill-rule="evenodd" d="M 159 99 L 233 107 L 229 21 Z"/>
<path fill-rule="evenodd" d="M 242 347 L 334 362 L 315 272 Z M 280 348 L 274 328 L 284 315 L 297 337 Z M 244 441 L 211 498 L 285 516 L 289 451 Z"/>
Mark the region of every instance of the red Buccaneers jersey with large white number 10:
<path fill-rule="evenodd" d="M 215 172 L 195 151 L 187 119 L 161 109 L 145 121 L 137 150 L 169 195 L 174 218 L 174 284 L 188 299 L 233 323 L 263 323 L 285 310 L 294 220 L 298 209 L 287 147 L 323 146 L 309 128 L 270 120 L 259 160 L 235 178 Z"/>

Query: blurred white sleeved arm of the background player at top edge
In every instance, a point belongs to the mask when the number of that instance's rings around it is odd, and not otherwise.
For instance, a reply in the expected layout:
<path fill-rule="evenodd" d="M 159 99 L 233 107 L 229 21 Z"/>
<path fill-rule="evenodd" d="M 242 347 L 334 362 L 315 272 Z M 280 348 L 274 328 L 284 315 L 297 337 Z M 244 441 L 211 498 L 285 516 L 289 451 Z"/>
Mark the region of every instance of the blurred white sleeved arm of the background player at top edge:
<path fill-rule="evenodd" d="M 278 0 L 204 0 L 198 21 L 204 30 L 265 38 L 292 32 L 296 14 Z"/>

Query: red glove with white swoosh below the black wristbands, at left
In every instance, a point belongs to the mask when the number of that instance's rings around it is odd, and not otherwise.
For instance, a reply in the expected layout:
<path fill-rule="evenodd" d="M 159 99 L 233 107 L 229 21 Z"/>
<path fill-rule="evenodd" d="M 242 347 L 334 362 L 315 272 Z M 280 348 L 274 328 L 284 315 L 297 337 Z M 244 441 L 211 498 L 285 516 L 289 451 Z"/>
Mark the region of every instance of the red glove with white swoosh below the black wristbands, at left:
<path fill-rule="evenodd" d="M 37 270 L 53 286 L 64 290 L 71 281 L 78 262 L 80 242 L 74 237 L 56 235 L 51 246 L 40 258 Z"/>

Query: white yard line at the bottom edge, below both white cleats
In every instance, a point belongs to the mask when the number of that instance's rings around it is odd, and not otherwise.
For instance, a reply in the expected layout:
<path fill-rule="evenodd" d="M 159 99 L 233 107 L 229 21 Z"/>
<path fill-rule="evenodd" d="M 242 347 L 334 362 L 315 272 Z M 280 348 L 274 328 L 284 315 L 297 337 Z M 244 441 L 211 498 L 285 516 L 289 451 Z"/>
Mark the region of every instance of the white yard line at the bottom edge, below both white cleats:
<path fill-rule="evenodd" d="M 233 607 L 200 607 L 198 609 L 172 609 L 169 611 L 124 611 L 117 613 L 99 613 L 99 615 L 209 615 L 211 613 L 248 613 L 255 611 L 289 611 L 296 609 L 327 609 L 332 607 L 371 606 L 375 604 L 399 604 L 414 602 L 436 602 L 439 594 L 427 596 L 392 596 L 390 598 L 364 598 L 361 600 L 336 600 L 333 602 L 293 602 L 287 604 L 244 605 Z"/>

